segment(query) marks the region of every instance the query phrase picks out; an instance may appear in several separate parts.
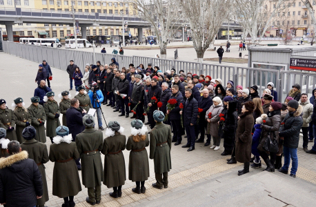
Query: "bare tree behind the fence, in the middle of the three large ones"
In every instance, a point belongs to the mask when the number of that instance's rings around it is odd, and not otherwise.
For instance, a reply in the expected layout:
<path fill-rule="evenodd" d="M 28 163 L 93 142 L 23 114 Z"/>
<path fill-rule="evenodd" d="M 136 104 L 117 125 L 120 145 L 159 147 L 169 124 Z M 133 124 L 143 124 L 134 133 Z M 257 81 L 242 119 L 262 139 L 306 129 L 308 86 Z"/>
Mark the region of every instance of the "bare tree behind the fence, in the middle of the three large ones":
<path fill-rule="evenodd" d="M 184 17 L 190 23 L 192 41 L 197 61 L 202 62 L 204 52 L 215 39 L 226 18 L 225 5 L 231 0 L 178 0 Z"/>

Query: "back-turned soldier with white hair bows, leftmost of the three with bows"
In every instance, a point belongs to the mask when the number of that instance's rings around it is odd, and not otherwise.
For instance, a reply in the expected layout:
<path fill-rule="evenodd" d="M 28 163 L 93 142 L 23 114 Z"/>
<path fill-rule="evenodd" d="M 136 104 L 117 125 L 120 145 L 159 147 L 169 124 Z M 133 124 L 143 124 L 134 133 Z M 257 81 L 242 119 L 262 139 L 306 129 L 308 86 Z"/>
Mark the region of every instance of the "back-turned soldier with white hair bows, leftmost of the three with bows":
<path fill-rule="evenodd" d="M 69 135 L 67 126 L 56 129 L 57 136 L 50 145 L 50 161 L 55 162 L 52 172 L 52 195 L 63 198 L 62 207 L 74 207 L 74 197 L 81 191 L 75 159 L 79 158 L 77 146 Z"/>

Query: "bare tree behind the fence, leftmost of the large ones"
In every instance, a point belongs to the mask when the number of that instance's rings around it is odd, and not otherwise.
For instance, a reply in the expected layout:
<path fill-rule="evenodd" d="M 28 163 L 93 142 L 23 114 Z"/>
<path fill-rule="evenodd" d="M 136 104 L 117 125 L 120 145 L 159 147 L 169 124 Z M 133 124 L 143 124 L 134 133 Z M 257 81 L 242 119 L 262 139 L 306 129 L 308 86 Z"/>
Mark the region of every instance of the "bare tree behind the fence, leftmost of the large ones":
<path fill-rule="evenodd" d="M 179 23 L 181 11 L 177 0 L 128 0 L 128 2 L 134 5 L 142 19 L 151 24 L 159 42 L 160 57 L 166 59 L 167 44 L 181 27 Z"/>

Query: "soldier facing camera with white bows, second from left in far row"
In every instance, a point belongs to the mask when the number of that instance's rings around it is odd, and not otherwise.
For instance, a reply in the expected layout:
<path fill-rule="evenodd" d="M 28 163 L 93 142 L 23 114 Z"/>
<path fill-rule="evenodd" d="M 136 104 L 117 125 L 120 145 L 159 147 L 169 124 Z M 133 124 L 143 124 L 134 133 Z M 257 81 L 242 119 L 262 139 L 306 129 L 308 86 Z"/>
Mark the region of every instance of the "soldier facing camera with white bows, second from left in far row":
<path fill-rule="evenodd" d="M 20 144 L 26 141 L 22 136 L 23 129 L 31 125 L 30 115 L 28 114 L 28 110 L 24 108 L 24 105 L 23 99 L 20 97 L 14 99 L 14 103 L 12 103 L 12 108 L 14 107 L 15 131 L 17 132 L 17 141 Z"/>

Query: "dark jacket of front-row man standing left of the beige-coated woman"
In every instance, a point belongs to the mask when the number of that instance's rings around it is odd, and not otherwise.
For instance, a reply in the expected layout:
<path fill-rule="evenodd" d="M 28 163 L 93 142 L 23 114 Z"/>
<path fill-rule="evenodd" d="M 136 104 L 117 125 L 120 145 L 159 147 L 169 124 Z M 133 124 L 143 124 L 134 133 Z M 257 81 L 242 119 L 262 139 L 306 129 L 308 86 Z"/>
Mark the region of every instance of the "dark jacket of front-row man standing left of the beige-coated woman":
<path fill-rule="evenodd" d="M 191 95 L 190 98 L 184 100 L 184 110 L 182 114 L 184 126 L 190 126 L 190 124 L 197 124 L 197 115 L 199 114 L 197 108 L 197 100 L 193 97 L 193 95 Z"/>

